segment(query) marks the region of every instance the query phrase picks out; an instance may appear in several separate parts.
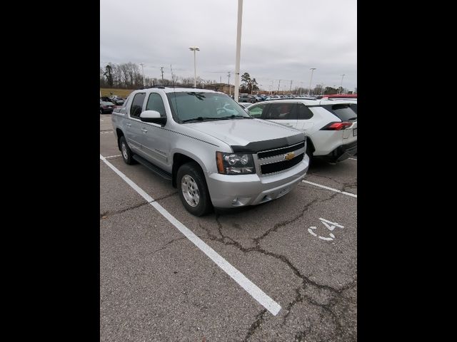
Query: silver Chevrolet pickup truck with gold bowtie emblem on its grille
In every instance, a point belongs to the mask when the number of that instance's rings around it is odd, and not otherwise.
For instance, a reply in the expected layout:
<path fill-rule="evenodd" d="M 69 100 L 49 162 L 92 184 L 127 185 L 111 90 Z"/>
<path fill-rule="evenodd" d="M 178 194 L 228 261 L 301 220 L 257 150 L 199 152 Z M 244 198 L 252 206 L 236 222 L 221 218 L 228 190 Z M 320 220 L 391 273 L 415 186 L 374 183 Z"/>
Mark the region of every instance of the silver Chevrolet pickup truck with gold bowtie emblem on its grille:
<path fill-rule="evenodd" d="M 170 180 L 196 216 L 277 199 L 308 171 L 303 132 L 251 118 L 214 90 L 134 90 L 111 120 L 124 162 Z"/>

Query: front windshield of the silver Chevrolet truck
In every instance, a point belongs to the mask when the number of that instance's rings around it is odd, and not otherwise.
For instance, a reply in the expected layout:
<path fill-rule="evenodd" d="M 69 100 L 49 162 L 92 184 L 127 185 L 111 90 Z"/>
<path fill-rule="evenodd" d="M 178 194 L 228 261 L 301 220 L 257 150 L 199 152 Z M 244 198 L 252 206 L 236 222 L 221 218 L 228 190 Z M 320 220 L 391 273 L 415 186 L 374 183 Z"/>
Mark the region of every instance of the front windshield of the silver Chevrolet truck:
<path fill-rule="evenodd" d="M 222 93 L 191 91 L 167 93 L 166 96 L 173 118 L 179 123 L 251 118 L 238 103 Z"/>

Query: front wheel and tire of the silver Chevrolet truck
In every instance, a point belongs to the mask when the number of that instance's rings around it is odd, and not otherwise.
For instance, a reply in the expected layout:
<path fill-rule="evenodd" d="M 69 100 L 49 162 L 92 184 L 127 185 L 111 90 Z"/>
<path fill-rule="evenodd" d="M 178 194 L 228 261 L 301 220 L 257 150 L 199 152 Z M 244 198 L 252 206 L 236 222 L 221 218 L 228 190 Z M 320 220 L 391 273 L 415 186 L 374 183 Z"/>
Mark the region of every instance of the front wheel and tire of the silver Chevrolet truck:
<path fill-rule="evenodd" d="M 181 202 L 188 212 L 195 216 L 208 214 L 213 209 L 206 180 L 196 162 L 188 162 L 179 167 L 176 185 Z"/>

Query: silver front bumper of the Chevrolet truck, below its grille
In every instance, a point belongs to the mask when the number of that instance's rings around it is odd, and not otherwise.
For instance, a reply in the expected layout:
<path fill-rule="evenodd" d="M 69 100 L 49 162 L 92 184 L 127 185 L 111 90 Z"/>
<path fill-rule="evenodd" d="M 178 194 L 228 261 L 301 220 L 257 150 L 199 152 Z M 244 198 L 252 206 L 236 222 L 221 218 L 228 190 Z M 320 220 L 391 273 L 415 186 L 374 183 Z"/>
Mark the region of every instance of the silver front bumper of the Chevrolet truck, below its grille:
<path fill-rule="evenodd" d="M 221 175 L 206 178 L 211 202 L 217 208 L 244 207 L 282 197 L 298 185 L 308 172 L 309 157 L 291 169 L 276 175 Z"/>

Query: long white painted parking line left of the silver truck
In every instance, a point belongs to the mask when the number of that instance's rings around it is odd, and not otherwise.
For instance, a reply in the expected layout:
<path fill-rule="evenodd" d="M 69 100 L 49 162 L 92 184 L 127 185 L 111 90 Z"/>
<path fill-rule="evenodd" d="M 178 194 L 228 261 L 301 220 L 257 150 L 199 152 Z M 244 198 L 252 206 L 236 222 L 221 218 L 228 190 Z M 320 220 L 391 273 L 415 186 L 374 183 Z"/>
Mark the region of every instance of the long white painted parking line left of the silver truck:
<path fill-rule="evenodd" d="M 184 226 L 181 222 L 179 222 L 176 218 L 173 217 L 169 212 L 164 209 L 159 203 L 155 202 L 154 199 L 146 194 L 144 190 L 142 190 L 138 185 L 136 185 L 134 182 L 132 182 L 129 177 L 124 175 L 121 171 L 116 169 L 114 165 L 111 164 L 108 160 L 106 160 L 106 157 L 103 155 L 100 155 L 100 159 L 103 160 L 103 162 L 108 165 L 111 170 L 116 172 L 116 174 L 119 175 L 123 180 L 126 181 L 128 185 L 130 185 L 136 192 L 141 195 L 144 199 L 146 199 L 149 204 L 151 204 L 158 212 L 160 212 L 166 219 L 169 220 L 171 224 L 176 227 L 179 232 L 184 234 L 184 236 L 187 237 L 193 244 L 196 245 L 196 247 L 199 247 L 201 252 L 204 252 L 209 259 L 214 261 L 217 266 L 219 266 L 222 270 L 226 272 L 226 274 L 229 274 L 231 278 L 238 283 L 239 286 L 241 286 L 243 289 L 246 290 L 248 294 L 250 294 L 253 299 L 256 299 L 259 304 L 261 304 L 265 309 L 271 312 L 273 316 L 276 316 L 278 312 L 281 310 L 281 306 L 276 303 L 276 301 L 273 301 L 265 292 L 263 292 L 261 289 L 256 286 L 256 284 L 253 284 L 252 281 L 246 278 L 238 269 L 233 267 L 231 264 L 229 264 L 229 261 L 226 261 L 223 257 L 221 257 L 219 254 L 217 254 L 214 249 L 209 247 L 205 242 L 203 242 L 199 237 L 194 234 L 189 228 Z"/>

